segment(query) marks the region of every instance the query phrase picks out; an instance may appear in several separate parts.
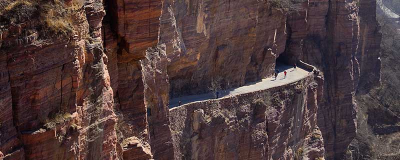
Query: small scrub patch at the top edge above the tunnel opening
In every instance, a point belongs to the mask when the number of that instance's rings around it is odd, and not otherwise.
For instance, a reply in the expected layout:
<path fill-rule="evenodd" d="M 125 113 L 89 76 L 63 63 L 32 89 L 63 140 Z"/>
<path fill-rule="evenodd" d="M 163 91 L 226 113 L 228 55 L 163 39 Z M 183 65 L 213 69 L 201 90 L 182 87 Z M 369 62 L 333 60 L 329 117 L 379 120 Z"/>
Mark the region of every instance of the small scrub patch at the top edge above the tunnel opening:
<path fill-rule="evenodd" d="M 284 13 L 298 12 L 301 9 L 301 3 L 305 0 L 268 0 L 272 8 L 281 10 Z"/>

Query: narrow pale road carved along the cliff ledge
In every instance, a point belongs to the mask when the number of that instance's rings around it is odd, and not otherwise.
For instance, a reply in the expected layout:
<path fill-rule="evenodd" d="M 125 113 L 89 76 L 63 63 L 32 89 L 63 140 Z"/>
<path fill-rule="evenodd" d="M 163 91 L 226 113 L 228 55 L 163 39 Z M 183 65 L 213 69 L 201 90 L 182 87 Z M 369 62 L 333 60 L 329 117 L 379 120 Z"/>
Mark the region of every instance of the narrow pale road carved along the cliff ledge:
<path fill-rule="evenodd" d="M 276 68 L 279 69 L 279 74 L 278 74 L 278 77 L 276 78 L 276 80 L 275 80 L 275 77 L 267 77 L 267 78 L 261 79 L 260 81 L 250 82 L 250 83 L 247 83 L 240 87 L 221 90 L 221 91 L 219 91 L 219 98 L 223 98 L 226 96 L 238 95 L 238 94 L 242 94 L 242 93 L 253 92 L 253 91 L 257 91 L 257 90 L 263 90 L 263 89 L 267 89 L 267 88 L 271 88 L 271 87 L 275 87 L 275 86 L 279 86 L 279 85 L 284 85 L 284 84 L 291 83 L 293 81 L 302 79 L 310 73 L 309 71 L 306 71 L 298 66 L 297 66 L 297 70 L 293 71 L 292 66 L 284 65 L 281 63 L 277 63 Z M 284 78 L 284 73 L 283 73 L 284 70 L 286 70 L 286 72 L 287 72 L 286 78 Z M 179 100 L 181 101 L 181 105 L 184 105 L 187 103 L 201 101 L 201 100 L 207 100 L 207 99 L 213 99 L 213 94 L 212 93 L 204 93 L 204 94 L 176 97 L 176 98 L 169 100 L 169 108 L 176 107 L 178 105 Z"/>

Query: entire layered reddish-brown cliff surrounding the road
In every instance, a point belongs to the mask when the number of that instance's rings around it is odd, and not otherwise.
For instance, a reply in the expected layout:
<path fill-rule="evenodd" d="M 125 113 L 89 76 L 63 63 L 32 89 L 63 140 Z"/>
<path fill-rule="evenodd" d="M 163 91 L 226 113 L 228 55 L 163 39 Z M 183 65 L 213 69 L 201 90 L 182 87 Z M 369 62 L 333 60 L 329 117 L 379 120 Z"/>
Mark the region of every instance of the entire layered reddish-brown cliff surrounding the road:
<path fill-rule="evenodd" d="M 375 0 L 293 5 L 1 1 L 0 159 L 339 159 L 379 81 Z M 168 109 L 297 60 L 321 74 Z"/>

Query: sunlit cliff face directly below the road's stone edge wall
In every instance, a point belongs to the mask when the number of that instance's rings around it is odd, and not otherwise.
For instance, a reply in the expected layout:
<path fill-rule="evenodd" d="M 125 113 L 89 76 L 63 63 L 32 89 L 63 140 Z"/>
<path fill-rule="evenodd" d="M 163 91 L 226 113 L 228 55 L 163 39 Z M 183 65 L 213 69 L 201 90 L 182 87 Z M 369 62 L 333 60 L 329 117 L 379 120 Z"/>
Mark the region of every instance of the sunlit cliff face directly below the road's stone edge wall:
<path fill-rule="evenodd" d="M 316 102 L 321 96 L 312 77 L 171 109 L 173 142 L 179 148 L 176 157 L 323 158 L 322 136 L 316 127 Z"/>

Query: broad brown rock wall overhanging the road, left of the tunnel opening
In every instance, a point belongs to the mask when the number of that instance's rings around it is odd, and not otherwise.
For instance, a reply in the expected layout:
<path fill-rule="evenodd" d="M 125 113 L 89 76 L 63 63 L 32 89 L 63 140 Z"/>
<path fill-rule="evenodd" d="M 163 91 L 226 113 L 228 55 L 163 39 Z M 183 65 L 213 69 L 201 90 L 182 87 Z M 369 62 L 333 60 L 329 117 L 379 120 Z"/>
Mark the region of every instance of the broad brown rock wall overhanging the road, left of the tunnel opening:
<path fill-rule="evenodd" d="M 216 76 L 225 88 L 258 80 L 284 51 L 285 16 L 264 1 L 164 1 L 171 97 L 206 92 Z"/>

